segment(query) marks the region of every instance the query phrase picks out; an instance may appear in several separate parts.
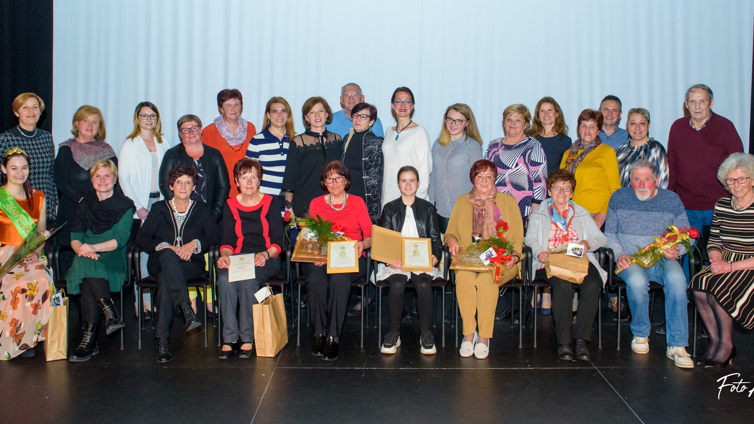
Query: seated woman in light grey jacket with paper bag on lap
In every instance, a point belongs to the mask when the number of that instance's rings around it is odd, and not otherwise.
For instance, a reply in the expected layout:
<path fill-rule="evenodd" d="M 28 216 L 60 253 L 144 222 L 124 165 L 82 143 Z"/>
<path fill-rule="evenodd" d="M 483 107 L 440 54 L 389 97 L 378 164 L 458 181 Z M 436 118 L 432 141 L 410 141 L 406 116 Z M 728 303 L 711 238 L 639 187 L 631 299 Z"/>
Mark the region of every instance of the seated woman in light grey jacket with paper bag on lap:
<path fill-rule="evenodd" d="M 589 361 L 586 342 L 592 336 L 592 324 L 599 306 L 599 290 L 607 274 L 599 267 L 593 251 L 604 247 L 607 239 L 597 228 L 589 211 L 575 204 L 571 198 L 576 189 L 576 178 L 565 169 L 556 169 L 547 177 L 549 198 L 532 212 L 526 245 L 532 247 L 532 272 L 537 278 L 547 280 L 552 287 L 553 321 L 558 340 L 558 358 L 572 360 L 575 339 L 576 357 Z M 584 281 L 578 284 L 581 296 L 578 301 L 576 323 L 572 325 L 572 305 L 575 284 L 553 275 L 547 278 L 544 263 L 550 249 L 564 243 L 578 243 L 587 250 L 589 269 Z"/>

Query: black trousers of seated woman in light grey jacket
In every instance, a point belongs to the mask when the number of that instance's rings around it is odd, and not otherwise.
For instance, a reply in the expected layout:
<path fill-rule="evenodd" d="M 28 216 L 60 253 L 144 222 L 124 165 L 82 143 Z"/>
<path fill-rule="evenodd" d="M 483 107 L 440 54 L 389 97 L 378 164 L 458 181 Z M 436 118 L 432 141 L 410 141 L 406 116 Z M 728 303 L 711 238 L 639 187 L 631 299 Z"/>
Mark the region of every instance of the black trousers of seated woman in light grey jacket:
<path fill-rule="evenodd" d="M 537 277 L 547 280 L 552 289 L 552 312 L 555 321 L 555 336 L 558 344 L 567 345 L 572 339 L 591 340 L 594 317 L 599 308 L 599 289 L 602 288 L 602 278 L 596 267 L 589 263 L 589 271 L 581 284 L 557 277 L 547 278 L 543 269 L 537 270 Z M 576 323 L 571 330 L 573 321 L 573 293 L 578 287 L 578 314 Z"/>

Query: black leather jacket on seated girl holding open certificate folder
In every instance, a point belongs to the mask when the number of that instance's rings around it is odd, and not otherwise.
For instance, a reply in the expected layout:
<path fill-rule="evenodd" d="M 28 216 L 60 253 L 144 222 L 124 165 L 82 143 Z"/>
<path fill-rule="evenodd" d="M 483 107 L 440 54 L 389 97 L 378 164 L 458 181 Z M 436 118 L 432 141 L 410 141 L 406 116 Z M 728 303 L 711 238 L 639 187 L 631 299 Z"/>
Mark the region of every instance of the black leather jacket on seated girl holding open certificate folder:
<path fill-rule="evenodd" d="M 415 198 L 411 205 L 416 220 L 416 229 L 419 238 L 432 240 L 432 254 L 440 260 L 443 255 L 443 243 L 440 241 L 440 222 L 437 220 L 437 209 L 429 201 L 423 198 Z M 402 198 L 389 201 L 382 208 L 379 226 L 400 232 L 403 229 L 403 220 L 406 220 L 406 205 Z"/>

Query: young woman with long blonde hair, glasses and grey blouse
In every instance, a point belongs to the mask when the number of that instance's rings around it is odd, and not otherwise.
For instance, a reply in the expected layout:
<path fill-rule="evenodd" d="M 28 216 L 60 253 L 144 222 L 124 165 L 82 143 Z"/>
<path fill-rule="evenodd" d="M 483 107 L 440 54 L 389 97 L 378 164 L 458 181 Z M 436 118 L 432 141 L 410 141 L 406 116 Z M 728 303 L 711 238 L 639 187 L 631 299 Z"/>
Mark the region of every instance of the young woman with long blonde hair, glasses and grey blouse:
<path fill-rule="evenodd" d="M 482 137 L 474 112 L 464 103 L 448 106 L 440 137 L 432 145 L 432 173 L 429 198 L 434 200 L 440 217 L 440 232 L 448 229 L 448 220 L 458 196 L 471 191 L 471 184 L 459 175 L 471 170 L 482 158 Z"/>

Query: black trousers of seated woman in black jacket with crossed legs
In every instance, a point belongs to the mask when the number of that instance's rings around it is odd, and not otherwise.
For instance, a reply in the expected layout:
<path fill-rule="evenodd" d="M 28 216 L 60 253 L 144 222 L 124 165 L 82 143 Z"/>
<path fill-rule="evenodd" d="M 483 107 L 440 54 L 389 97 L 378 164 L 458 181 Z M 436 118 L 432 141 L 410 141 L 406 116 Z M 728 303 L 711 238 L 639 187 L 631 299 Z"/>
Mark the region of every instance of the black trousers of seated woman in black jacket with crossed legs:
<path fill-rule="evenodd" d="M 149 275 L 157 276 L 155 337 L 164 339 L 170 336 L 175 309 L 189 302 L 186 283 L 204 274 L 204 267 L 190 260 L 181 260 L 173 249 L 161 249 L 149 254 L 146 269 Z"/>

